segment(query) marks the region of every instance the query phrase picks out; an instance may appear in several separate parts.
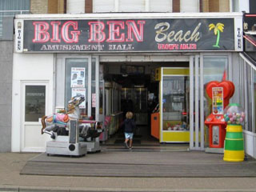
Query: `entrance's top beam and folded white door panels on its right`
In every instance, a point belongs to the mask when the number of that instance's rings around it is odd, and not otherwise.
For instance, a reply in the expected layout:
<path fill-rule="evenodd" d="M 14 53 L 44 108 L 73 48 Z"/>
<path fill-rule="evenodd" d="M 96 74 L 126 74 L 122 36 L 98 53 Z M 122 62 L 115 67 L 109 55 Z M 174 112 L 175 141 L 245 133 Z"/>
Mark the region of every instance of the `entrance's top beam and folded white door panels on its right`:
<path fill-rule="evenodd" d="M 190 68 L 190 150 L 204 150 L 203 54 L 103 54 L 99 62 L 189 62 Z M 194 80 L 195 78 L 195 80 Z M 194 87 L 194 83 L 198 86 Z M 195 88 L 195 90 L 194 90 Z M 194 101 L 195 106 L 194 106 Z M 200 107 L 200 114 L 199 114 Z M 195 118 L 194 118 L 194 108 Z M 202 118 L 200 118 L 202 117 Z M 195 120 L 195 122 L 194 122 Z M 195 130 L 194 130 L 195 126 Z M 160 130 L 159 130 L 160 132 Z M 159 133 L 160 134 L 160 133 Z M 199 139 L 200 138 L 200 139 Z"/>

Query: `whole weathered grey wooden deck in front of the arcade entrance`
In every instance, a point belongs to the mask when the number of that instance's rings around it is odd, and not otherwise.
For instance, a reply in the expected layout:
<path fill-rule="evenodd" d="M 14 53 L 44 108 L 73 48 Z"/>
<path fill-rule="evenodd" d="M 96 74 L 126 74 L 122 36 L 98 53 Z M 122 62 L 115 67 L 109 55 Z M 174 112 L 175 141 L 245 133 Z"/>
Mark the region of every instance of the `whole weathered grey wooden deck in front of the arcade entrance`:
<path fill-rule="evenodd" d="M 224 162 L 223 154 L 203 152 L 108 152 L 82 158 L 39 154 L 20 174 L 86 177 L 242 178 L 256 177 L 254 159 Z"/>

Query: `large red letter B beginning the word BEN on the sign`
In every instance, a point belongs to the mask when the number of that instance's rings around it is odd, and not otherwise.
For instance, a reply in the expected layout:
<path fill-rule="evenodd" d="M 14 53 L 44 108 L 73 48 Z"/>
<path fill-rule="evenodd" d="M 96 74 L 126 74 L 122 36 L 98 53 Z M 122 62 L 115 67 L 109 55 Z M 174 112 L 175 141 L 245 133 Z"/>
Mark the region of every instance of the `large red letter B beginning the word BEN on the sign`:
<path fill-rule="evenodd" d="M 105 29 L 104 22 L 88 22 L 90 26 L 90 38 L 89 42 L 104 42 L 106 34 L 103 31 Z"/>

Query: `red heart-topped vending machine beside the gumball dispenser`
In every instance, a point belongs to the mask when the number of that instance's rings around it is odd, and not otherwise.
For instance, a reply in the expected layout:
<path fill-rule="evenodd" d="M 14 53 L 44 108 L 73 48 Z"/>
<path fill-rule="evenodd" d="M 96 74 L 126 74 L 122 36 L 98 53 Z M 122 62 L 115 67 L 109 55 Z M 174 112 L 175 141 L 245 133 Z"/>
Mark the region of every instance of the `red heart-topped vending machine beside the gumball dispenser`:
<path fill-rule="evenodd" d="M 205 121 L 206 126 L 209 127 L 209 146 L 223 148 L 226 136 L 224 109 L 234 94 L 234 84 L 230 81 L 208 82 L 206 93 L 212 99 L 212 113 Z"/>

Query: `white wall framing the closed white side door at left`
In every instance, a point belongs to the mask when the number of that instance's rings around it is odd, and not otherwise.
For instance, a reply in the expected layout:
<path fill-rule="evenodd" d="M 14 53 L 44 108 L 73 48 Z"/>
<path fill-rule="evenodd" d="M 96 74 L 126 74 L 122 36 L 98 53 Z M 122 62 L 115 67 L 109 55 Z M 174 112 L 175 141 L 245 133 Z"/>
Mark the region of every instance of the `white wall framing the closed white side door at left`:
<path fill-rule="evenodd" d="M 11 151 L 21 151 L 22 135 L 22 81 L 49 82 L 46 113 L 53 112 L 54 54 L 14 54 L 12 91 Z M 44 145 L 44 143 L 42 143 Z"/>

